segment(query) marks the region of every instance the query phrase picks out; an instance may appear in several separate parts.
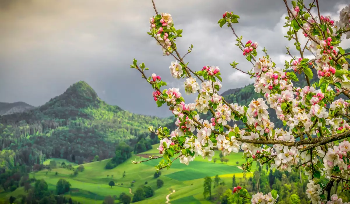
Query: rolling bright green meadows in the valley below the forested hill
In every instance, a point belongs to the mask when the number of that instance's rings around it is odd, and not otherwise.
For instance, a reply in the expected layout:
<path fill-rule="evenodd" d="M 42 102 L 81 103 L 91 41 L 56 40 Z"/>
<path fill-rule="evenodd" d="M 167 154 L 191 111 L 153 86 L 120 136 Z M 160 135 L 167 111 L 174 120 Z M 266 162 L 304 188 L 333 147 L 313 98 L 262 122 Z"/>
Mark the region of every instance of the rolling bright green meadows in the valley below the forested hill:
<path fill-rule="evenodd" d="M 158 155 L 157 147 L 158 145 L 154 145 L 153 149 L 142 154 Z M 35 178 L 44 179 L 48 183 L 49 189 L 52 191 L 56 190 L 57 181 L 60 178 L 64 178 L 71 184 L 71 191 L 66 196 L 72 197 L 72 199 L 79 201 L 80 203 L 101 204 L 105 196 L 115 195 L 118 197 L 122 192 L 132 196 L 129 193 L 129 188 L 134 192 L 140 185 L 145 184 L 145 182 L 148 182 L 147 185 L 155 190 L 155 195 L 145 201 L 138 202 L 140 204 L 165 203 L 166 196 L 173 190 L 175 190 L 175 192 L 170 195 L 169 203 L 210 203 L 203 198 L 203 177 L 215 177 L 215 175 L 218 174 L 219 177 L 225 181 L 226 185 L 230 186 L 234 174 L 236 175 L 236 178 L 243 177 L 243 170 L 237 167 L 238 164 L 241 166 L 241 164 L 245 162 L 245 159 L 243 159 L 242 156 L 243 153 L 241 152 L 227 156 L 229 159 L 227 164 L 220 162 L 219 152 L 216 152 L 215 154 L 215 158 L 217 158 L 216 163 L 197 157 L 195 161 L 190 162 L 190 164 L 186 166 L 181 164 L 179 160 L 176 160 L 173 162 L 170 169 L 163 169 L 161 171 L 161 176 L 159 178 L 164 181 L 164 185 L 159 189 L 156 187 L 157 179 L 153 178 L 153 175 L 155 172 L 154 166 L 158 164 L 160 159 L 132 164 L 131 160 L 146 160 L 146 158 L 138 155 L 133 155 L 132 158 L 123 164 L 110 170 L 104 169 L 109 160 L 103 160 L 83 164 L 85 170 L 75 177 L 72 176 L 73 170 L 56 168 L 51 171 L 39 171 L 35 173 Z M 55 160 L 57 163 L 63 162 L 61 159 L 51 160 Z M 64 162 L 69 164 L 68 161 Z M 236 162 L 238 162 L 238 164 Z M 48 163 L 49 161 L 45 161 L 45 164 Z M 123 177 L 124 171 L 126 172 L 125 177 Z M 55 175 L 56 172 L 57 175 Z M 107 175 L 109 176 L 107 177 Z M 111 177 L 112 175 L 113 178 Z M 247 173 L 247 177 L 250 176 L 251 173 Z M 34 177 L 34 174 L 31 173 L 30 177 Z M 112 180 L 116 183 L 116 186 L 113 188 L 108 185 Z M 134 186 L 131 187 L 131 182 L 133 180 L 135 180 L 135 183 Z M 11 195 L 16 197 L 21 194 L 25 194 L 23 187 L 10 193 L 0 194 L 0 199 L 8 199 Z"/>

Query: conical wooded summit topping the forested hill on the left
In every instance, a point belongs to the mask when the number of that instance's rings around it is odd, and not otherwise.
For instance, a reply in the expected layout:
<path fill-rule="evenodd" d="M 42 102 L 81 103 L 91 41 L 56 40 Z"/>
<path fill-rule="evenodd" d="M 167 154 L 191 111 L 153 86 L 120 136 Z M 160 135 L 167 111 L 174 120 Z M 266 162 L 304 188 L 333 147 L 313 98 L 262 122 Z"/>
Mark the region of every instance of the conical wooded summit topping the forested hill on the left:
<path fill-rule="evenodd" d="M 46 110 L 49 107 L 98 107 L 102 100 L 97 96 L 97 93 L 89 84 L 84 81 L 79 81 L 69 86 L 69 88 L 59 96 L 52 98 L 48 103 L 40 107 L 41 110 Z"/>

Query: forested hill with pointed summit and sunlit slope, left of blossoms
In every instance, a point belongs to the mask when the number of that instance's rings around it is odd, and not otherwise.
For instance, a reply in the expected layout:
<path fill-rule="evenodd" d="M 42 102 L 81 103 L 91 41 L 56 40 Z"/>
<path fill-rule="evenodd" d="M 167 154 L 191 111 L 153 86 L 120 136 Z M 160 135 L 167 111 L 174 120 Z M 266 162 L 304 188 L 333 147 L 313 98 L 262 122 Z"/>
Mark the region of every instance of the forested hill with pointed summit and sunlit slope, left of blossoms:
<path fill-rule="evenodd" d="M 170 121 L 108 105 L 80 81 L 40 107 L 0 117 L 0 170 L 50 157 L 77 163 L 110 158 L 120 141 L 134 145 L 149 136 L 150 125 Z"/>

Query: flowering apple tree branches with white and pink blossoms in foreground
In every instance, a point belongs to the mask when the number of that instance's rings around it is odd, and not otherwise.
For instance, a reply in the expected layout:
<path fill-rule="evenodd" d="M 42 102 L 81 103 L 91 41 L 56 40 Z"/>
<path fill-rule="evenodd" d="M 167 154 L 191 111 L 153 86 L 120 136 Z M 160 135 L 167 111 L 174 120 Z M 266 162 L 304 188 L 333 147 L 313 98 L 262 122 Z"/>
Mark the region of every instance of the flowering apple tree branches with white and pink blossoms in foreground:
<path fill-rule="evenodd" d="M 156 130 L 149 127 L 150 132 L 158 135 L 158 150 L 163 155 L 157 171 L 170 168 L 176 159 L 186 165 L 197 156 L 211 161 L 214 150 L 219 150 L 221 161 L 227 162 L 225 156 L 243 150 L 246 158 L 243 170 L 250 171 L 253 162 L 277 171 L 303 168 L 309 180 L 306 194 L 312 204 L 343 203 L 336 195 L 337 185 L 334 184 L 348 182 L 350 178 L 350 72 L 345 60 L 350 52 L 345 53 L 339 43 L 344 35 L 350 38 L 350 9 L 349 6 L 342 9 L 339 21 L 334 22 L 330 16 L 321 15 L 318 0 L 309 5 L 303 0 L 292 1 L 292 5 L 288 5 L 287 0 L 283 2 L 287 9 L 285 37 L 294 41 L 297 53 L 293 56 L 291 48 L 286 47 L 289 59 L 284 65 L 276 65 L 265 48 L 258 49 L 257 42 L 242 41 L 243 36 L 238 36 L 234 28 L 238 15 L 225 12 L 218 21 L 219 27 L 226 25 L 232 30 L 236 46 L 252 64 L 247 71 L 236 61 L 230 64 L 233 69 L 254 78 L 254 91 L 261 94 L 247 107 L 229 104 L 219 95 L 222 78 L 217 66 L 203 64 L 201 70 L 189 67 L 184 58 L 193 45 L 186 54 L 180 54 L 176 42 L 182 37 L 182 29 L 175 28 L 172 15 L 159 14 L 153 2 L 156 15 L 149 19 L 147 34 L 161 46 L 164 56 L 175 58 L 169 70 L 172 77 L 185 79 L 185 93 L 198 94 L 195 103 L 186 104 L 180 89 L 161 90 L 167 83 L 160 76 L 153 73 L 147 77 L 149 69 L 144 63 L 137 64 L 134 59 L 130 65 L 154 89 L 152 98 L 157 106 L 166 104 L 177 118 L 177 129 L 172 132 L 166 127 Z M 315 57 L 306 58 L 307 52 Z M 317 81 L 310 82 L 314 73 Z M 295 85 L 296 82 L 301 85 Z M 275 127 L 268 110 L 273 111 L 284 127 Z M 211 119 L 200 119 L 198 113 L 208 113 Z M 232 196 L 228 193 L 223 194 L 222 202 L 248 199 L 253 204 L 272 204 L 278 199 L 276 190 L 249 195 L 246 189 L 237 186 Z M 203 195 L 211 199 L 210 177 L 204 180 Z M 298 199 L 290 196 L 290 202 L 298 202 Z"/>

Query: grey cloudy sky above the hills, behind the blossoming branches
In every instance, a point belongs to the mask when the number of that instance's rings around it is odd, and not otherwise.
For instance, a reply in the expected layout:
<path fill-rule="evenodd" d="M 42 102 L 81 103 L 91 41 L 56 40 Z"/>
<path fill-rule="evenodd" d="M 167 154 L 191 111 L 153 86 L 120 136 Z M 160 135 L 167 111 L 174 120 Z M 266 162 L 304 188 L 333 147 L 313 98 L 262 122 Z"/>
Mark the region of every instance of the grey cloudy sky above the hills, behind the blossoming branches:
<path fill-rule="evenodd" d="M 266 47 L 277 65 L 290 59 L 284 55 L 285 47 L 294 42 L 283 38 L 286 9 L 282 0 L 155 3 L 158 12 L 172 14 L 176 29 L 183 29 L 183 37 L 177 40 L 180 53 L 194 45 L 186 57 L 192 70 L 219 66 L 222 91 L 252 83 L 229 65 L 236 60 L 240 69 L 252 68 L 235 46 L 232 31 L 217 24 L 226 10 L 240 16 L 235 29 L 244 42 L 258 42 L 258 50 Z M 338 20 L 339 11 L 349 3 L 320 0 L 321 14 Z M 156 73 L 169 87 L 180 87 L 184 93 L 183 80 L 170 76 L 174 59 L 162 56 L 161 47 L 146 34 L 153 15 L 151 0 L 1 0 L 0 101 L 39 106 L 84 80 L 111 105 L 134 113 L 171 115 L 167 107 L 156 107 L 152 87 L 137 70 L 130 69 L 135 57 L 150 68 L 148 76 Z M 342 45 L 350 47 L 347 40 Z M 190 103 L 194 97 L 185 99 Z"/>

